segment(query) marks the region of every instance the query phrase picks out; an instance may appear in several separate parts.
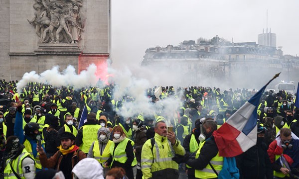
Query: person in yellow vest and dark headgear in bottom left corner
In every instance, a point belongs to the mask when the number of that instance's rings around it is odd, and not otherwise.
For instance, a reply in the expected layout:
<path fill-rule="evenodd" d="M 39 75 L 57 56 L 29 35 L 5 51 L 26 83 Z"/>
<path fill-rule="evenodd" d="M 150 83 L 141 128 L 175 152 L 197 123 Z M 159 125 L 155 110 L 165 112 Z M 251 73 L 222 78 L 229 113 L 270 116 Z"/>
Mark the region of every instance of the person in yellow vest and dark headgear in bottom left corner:
<path fill-rule="evenodd" d="M 16 136 L 7 138 L 6 151 L 8 159 L 4 168 L 4 178 L 34 179 L 36 172 L 34 160 Z"/>

